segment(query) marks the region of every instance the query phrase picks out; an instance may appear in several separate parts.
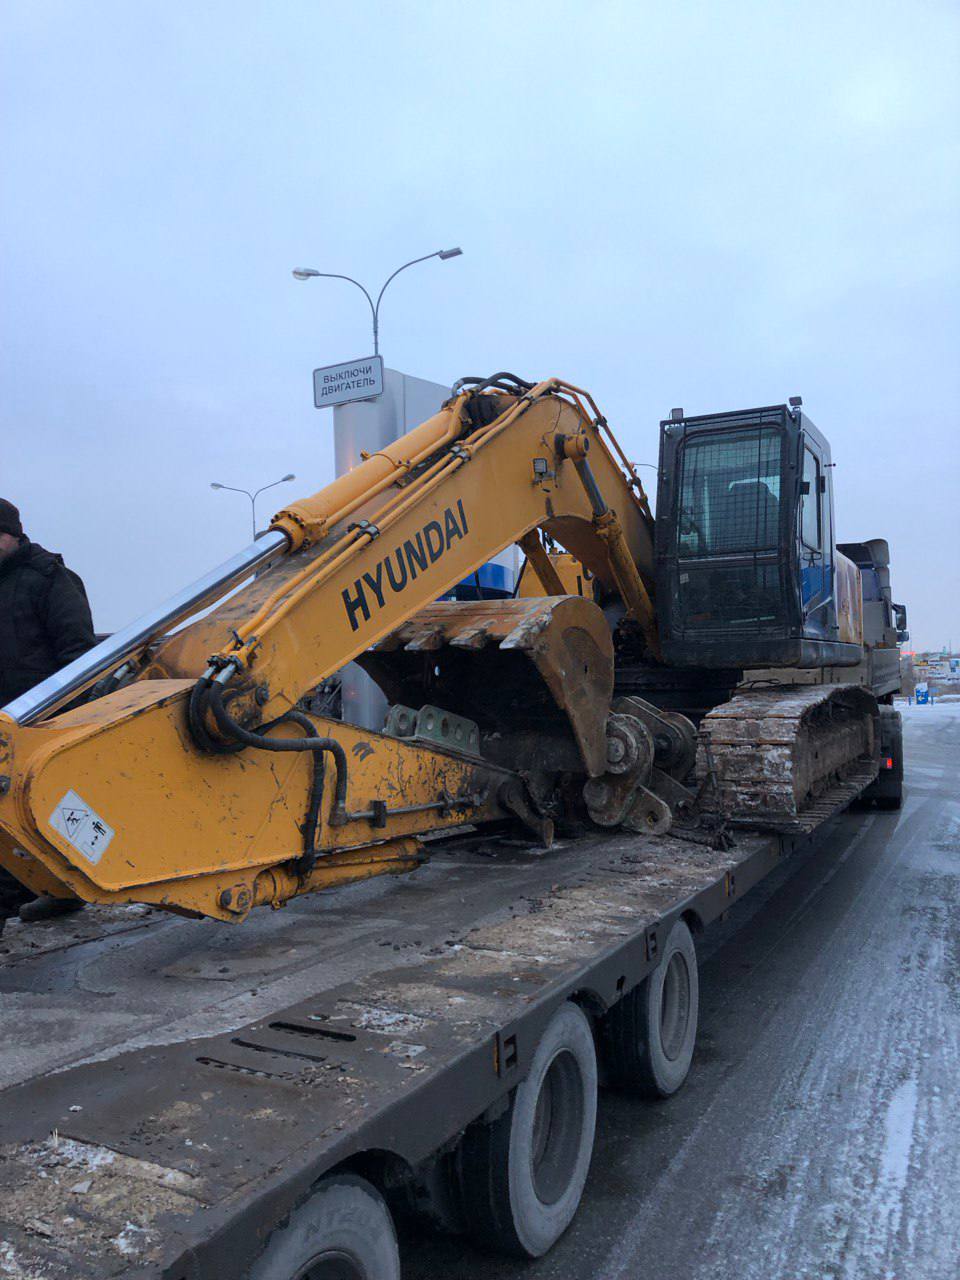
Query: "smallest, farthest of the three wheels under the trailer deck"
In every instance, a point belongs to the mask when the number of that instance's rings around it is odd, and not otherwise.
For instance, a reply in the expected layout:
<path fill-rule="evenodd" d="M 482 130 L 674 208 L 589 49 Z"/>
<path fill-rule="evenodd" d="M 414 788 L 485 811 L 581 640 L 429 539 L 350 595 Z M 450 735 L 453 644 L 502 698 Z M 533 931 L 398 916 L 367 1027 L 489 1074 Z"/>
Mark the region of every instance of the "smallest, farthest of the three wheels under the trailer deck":
<path fill-rule="evenodd" d="M 699 1005 L 696 948 L 690 929 L 677 920 L 657 968 L 603 1020 L 609 1083 L 650 1098 L 676 1093 L 694 1057 Z"/>

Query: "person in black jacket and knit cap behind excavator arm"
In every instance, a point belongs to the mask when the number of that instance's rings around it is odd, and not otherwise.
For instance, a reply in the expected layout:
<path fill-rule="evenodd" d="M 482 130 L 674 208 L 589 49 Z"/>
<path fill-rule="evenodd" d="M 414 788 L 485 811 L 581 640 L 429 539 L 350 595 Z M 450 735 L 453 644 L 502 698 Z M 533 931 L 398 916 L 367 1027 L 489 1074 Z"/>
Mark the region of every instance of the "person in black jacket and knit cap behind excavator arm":
<path fill-rule="evenodd" d="M 0 708 L 93 644 L 82 580 L 63 556 L 26 538 L 19 511 L 0 498 Z M 0 890 L 10 890 L 3 879 Z M 20 915 L 42 919 L 82 905 L 79 899 L 44 896 L 26 902 Z"/>

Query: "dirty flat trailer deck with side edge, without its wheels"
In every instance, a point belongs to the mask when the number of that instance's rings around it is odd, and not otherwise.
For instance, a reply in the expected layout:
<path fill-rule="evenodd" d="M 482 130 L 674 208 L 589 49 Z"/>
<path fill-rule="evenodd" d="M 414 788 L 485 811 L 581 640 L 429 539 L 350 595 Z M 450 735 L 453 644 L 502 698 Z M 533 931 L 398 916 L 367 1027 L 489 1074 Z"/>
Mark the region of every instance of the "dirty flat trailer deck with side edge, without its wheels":
<path fill-rule="evenodd" d="M 96 909 L 0 940 L 0 1276 L 241 1276 L 347 1160 L 396 1178 L 792 847 L 461 837 L 238 928 Z"/>

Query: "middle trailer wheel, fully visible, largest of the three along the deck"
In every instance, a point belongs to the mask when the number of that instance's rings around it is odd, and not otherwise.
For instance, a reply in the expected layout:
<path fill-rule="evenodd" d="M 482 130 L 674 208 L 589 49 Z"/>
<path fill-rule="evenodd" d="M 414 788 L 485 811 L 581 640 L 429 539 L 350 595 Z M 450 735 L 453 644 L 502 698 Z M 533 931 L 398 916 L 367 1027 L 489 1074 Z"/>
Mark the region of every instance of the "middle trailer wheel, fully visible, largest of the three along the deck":
<path fill-rule="evenodd" d="M 471 1125 L 453 1158 L 466 1230 L 481 1248 L 538 1258 L 570 1226 L 590 1169 L 596 1050 L 585 1014 L 562 1005 L 503 1115 Z"/>

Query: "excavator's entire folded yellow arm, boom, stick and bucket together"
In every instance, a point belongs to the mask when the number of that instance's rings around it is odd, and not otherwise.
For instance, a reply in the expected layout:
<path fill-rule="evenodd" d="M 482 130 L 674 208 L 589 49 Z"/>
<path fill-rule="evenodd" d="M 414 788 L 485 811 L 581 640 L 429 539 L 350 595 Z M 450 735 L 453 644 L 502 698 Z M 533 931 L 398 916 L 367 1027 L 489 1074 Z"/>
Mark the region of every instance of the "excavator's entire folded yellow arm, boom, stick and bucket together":
<path fill-rule="evenodd" d="M 173 635 L 159 623 L 128 630 L 0 713 L 8 870 L 36 892 L 236 920 L 257 904 L 407 870 L 424 856 L 420 836 L 465 822 L 518 819 L 549 842 L 559 781 L 571 777 L 593 788 L 595 820 L 663 829 L 669 810 L 644 786 L 654 763 L 645 713 L 612 713 L 609 625 L 591 600 L 547 594 L 559 582 L 538 534 L 590 571 L 657 654 L 640 483 L 586 393 L 557 379 L 470 381 L 279 512 L 232 577 L 189 596 L 207 605 L 230 591 L 211 612 Z M 515 541 L 544 598 L 472 613 L 434 604 Z M 509 731 L 422 703 L 424 671 L 447 644 L 494 654 Z M 394 708 L 392 732 L 300 707 L 360 657 L 380 662 L 385 686 L 420 691 L 421 705 Z M 461 686 L 494 667 L 457 668 Z M 95 680 L 97 696 L 76 705 Z M 525 722 L 548 744 L 535 767 Z"/>

